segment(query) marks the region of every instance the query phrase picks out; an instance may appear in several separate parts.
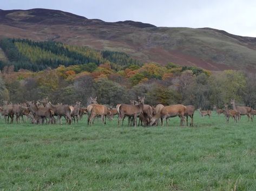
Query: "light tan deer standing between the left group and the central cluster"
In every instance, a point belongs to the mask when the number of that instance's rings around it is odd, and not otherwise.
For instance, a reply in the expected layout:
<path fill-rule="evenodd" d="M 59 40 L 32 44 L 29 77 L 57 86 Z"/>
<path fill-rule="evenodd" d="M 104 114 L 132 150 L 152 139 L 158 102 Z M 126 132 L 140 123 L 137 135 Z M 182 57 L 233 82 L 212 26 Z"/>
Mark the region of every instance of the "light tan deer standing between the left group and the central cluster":
<path fill-rule="evenodd" d="M 108 108 L 106 106 L 100 104 L 90 104 L 87 107 L 87 110 L 89 111 L 87 125 L 89 125 L 89 123 L 91 124 L 91 121 L 94 122 L 94 119 L 97 116 L 101 116 L 103 124 L 106 124 L 106 117 L 108 114 Z"/>

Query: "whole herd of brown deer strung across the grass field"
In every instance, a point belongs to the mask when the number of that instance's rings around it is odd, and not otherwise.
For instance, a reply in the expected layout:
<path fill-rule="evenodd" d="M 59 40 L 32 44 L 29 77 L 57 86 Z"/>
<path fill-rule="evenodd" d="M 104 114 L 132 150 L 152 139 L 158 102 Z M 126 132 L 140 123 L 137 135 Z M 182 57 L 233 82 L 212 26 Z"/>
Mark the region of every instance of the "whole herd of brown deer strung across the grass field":
<path fill-rule="evenodd" d="M 38 101 L 27 101 L 22 104 L 12 104 L 8 101 L 3 101 L 3 106 L 0 107 L 0 113 L 5 119 L 6 124 L 12 124 L 14 118 L 16 122 L 19 123 L 25 120 L 30 120 L 32 124 L 62 124 L 62 117 L 65 119 L 65 124 L 71 124 L 72 122 L 77 122 L 80 120 L 84 114 L 88 115 L 87 124 L 94 124 L 94 120 L 100 117 L 103 124 L 106 124 L 106 118 L 113 120 L 114 116 L 117 115 L 118 125 L 120 121 L 123 121 L 128 117 L 128 125 L 131 126 L 153 126 L 168 125 L 168 118 L 179 117 L 180 126 L 188 126 L 188 117 L 191 118 L 190 126 L 193 126 L 194 122 L 194 112 L 195 107 L 193 105 L 169 105 L 164 106 L 158 104 L 155 107 L 144 104 L 145 97 L 138 97 L 136 100 L 130 100 L 130 104 L 117 104 L 116 108 L 109 108 L 106 105 L 98 104 L 97 97 L 90 97 L 87 102 L 87 107 L 82 107 L 80 101 L 76 101 L 74 105 L 54 105 L 48 98 L 38 100 Z M 216 114 L 220 115 L 223 113 L 226 117 L 226 121 L 229 122 L 229 118 L 233 118 L 235 122 L 240 121 L 241 115 L 247 115 L 248 121 L 252 121 L 252 117 L 256 114 L 256 110 L 252 110 L 251 107 L 247 106 L 237 106 L 235 105 L 235 100 L 229 100 L 229 104 L 232 109 L 228 108 L 228 104 L 224 104 L 224 109 L 216 110 Z M 199 113 L 201 117 L 208 115 L 211 118 L 212 111 L 202 111 L 199 108 Z M 56 118 L 55 118 L 56 117 Z M 139 118 L 139 124 L 137 119 Z"/>

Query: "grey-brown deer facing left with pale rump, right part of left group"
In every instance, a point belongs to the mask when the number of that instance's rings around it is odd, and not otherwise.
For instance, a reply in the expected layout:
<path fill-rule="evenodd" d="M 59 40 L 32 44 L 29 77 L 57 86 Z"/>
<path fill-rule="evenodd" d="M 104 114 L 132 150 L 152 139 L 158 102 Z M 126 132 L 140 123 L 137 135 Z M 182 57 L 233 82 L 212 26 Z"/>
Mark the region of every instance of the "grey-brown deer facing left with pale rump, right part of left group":
<path fill-rule="evenodd" d="M 67 123 L 71 125 L 72 118 L 71 114 L 74 111 L 73 106 L 69 105 L 53 105 L 49 101 L 49 103 L 46 105 L 47 108 L 50 108 L 52 111 L 54 111 L 54 115 L 58 117 L 57 121 L 62 125 L 61 117 L 64 117 L 67 120 Z"/>

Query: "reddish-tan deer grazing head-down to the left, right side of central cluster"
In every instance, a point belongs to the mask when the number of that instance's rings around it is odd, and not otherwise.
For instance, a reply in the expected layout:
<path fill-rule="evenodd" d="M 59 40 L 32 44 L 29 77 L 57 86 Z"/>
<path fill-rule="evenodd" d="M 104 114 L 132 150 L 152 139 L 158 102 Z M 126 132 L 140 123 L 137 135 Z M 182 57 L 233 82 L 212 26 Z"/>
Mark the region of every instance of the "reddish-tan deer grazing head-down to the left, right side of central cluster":
<path fill-rule="evenodd" d="M 166 125 L 168 125 L 168 118 L 173 118 L 176 116 L 180 117 L 180 126 L 183 125 L 183 122 L 185 121 L 184 114 L 186 112 L 186 106 L 183 106 L 181 104 L 178 105 L 170 105 L 165 106 L 162 108 L 162 110 L 154 115 L 150 120 L 150 125 L 153 125 L 156 120 L 161 119 L 161 124 L 163 126 L 163 121 L 166 119 Z"/>

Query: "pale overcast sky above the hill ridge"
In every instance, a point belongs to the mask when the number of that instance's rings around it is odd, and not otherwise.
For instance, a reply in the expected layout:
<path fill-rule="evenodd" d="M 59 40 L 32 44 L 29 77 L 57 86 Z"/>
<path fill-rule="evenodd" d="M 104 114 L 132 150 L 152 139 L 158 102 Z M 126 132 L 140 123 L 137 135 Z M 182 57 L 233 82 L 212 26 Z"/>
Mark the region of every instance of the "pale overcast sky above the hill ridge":
<path fill-rule="evenodd" d="M 107 22 L 133 20 L 156 26 L 210 27 L 256 37 L 255 0 L 0 0 L 0 9 L 63 10 Z"/>

